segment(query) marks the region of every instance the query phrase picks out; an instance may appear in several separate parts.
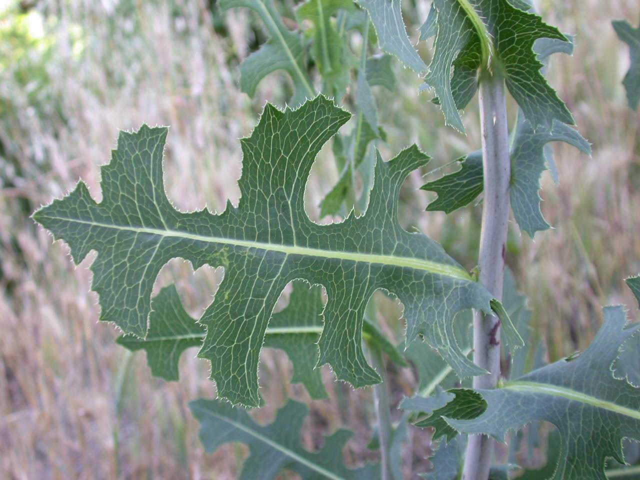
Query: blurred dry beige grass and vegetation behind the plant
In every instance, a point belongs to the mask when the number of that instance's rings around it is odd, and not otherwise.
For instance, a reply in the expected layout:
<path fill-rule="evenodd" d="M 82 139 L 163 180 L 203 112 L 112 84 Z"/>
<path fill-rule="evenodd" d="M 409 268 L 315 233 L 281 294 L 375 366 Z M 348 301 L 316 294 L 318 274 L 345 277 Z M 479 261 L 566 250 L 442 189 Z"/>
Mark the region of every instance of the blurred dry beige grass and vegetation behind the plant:
<path fill-rule="evenodd" d="M 295 6 L 276 4 L 284 15 Z M 509 232 L 508 264 L 529 296 L 536 341 L 556 360 L 588 344 L 600 305 L 636 308 L 623 278 L 640 271 L 640 116 L 627 108 L 621 79 L 628 51 L 610 22 L 637 24 L 640 4 L 541 0 L 537 6 L 550 24 L 576 35 L 575 54 L 552 58 L 548 77 L 593 143 L 592 157 L 554 145 L 560 183 L 543 177 L 541 196 L 555 229 L 534 241 L 515 223 Z M 414 44 L 428 7 L 425 0 L 403 3 Z M 298 28 L 293 21 L 287 26 Z M 79 177 L 99 200 L 99 166 L 108 162 L 118 129 L 143 122 L 171 125 L 164 179 L 179 209 L 206 204 L 220 211 L 227 198 L 236 203 L 237 138 L 250 133 L 264 102 L 282 107 L 291 95 L 289 79 L 278 72 L 260 83 L 254 99 L 239 90 L 239 63 L 266 38 L 251 12 L 222 15 L 207 0 L 0 1 L 0 477 L 236 477 L 246 449 L 227 445 L 205 454 L 186 406 L 198 396 L 214 397 L 207 364 L 192 349 L 179 382 L 152 378 L 144 356 L 114 344 L 116 329 L 96 322 L 97 298 L 88 292 L 93 256 L 74 267 L 67 247 L 52 244 L 29 215 Z M 422 42 L 419 52 L 428 60 L 429 44 Z M 420 79 L 397 61 L 393 68 L 397 92 L 374 89 L 387 132 L 383 158 L 415 142 L 434 157 L 430 170 L 479 148 L 474 108 L 465 112 L 467 136 L 445 128 L 429 93 L 418 96 Z M 320 219 L 317 207 L 337 179 L 331 157 L 328 146 L 308 183 L 307 211 L 317 221 L 332 221 Z M 417 188 L 428 170 L 407 180 L 401 222 L 440 241 L 471 269 L 481 209 L 424 212 L 433 195 Z M 156 291 L 176 280 L 184 305 L 198 316 L 222 275 L 206 267 L 194 273 L 173 260 Z M 381 303 L 383 330 L 400 342 L 399 307 Z M 313 449 L 322 433 L 345 426 L 356 432 L 348 462 L 374 459 L 365 447 L 374 419 L 371 390 L 353 392 L 323 369 L 331 399 L 311 403 L 313 428 L 303 443 Z M 412 393 L 415 372 L 392 373 L 397 402 Z M 260 384 L 268 406 L 253 413 L 261 422 L 286 397 L 309 401 L 299 385 L 287 384 L 290 376 L 286 356 L 265 349 Z M 406 452 L 407 472 L 424 463 L 429 449 L 428 435 L 419 429 L 410 435 L 415 451 Z"/>

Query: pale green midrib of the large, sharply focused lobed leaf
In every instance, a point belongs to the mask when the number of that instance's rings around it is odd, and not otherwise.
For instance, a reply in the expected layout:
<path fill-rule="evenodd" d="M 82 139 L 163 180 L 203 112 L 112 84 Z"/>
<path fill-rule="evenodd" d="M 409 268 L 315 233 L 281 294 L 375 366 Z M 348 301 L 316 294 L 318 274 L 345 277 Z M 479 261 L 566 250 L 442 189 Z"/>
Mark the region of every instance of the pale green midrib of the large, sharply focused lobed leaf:
<path fill-rule="evenodd" d="M 233 246 L 241 246 L 244 248 L 255 248 L 257 250 L 270 250 L 271 252 L 282 252 L 287 255 L 305 255 L 308 257 L 321 257 L 325 259 L 336 260 L 353 260 L 354 262 L 374 263 L 382 265 L 392 265 L 397 267 L 413 268 L 416 270 L 424 270 L 436 275 L 451 276 L 452 278 L 460 278 L 461 280 L 471 280 L 471 276 L 466 270 L 445 265 L 438 262 L 432 262 L 425 259 L 412 259 L 410 257 L 395 257 L 394 255 L 377 255 L 375 253 L 356 253 L 356 252 L 337 252 L 333 250 L 323 250 L 321 248 L 308 248 L 303 246 L 280 245 L 275 243 L 264 243 L 257 241 L 229 239 L 223 237 L 209 237 L 204 235 L 190 234 L 188 232 L 180 232 L 177 230 L 159 230 L 158 228 L 145 227 L 125 227 L 122 225 L 109 225 L 97 221 L 78 220 L 76 218 L 62 218 L 57 216 L 47 216 L 49 220 L 62 220 L 80 223 L 83 225 L 92 225 L 93 227 L 113 228 L 115 230 L 124 230 L 134 232 L 136 234 L 150 234 L 160 237 L 184 238 L 196 240 L 205 243 L 221 243 Z"/>

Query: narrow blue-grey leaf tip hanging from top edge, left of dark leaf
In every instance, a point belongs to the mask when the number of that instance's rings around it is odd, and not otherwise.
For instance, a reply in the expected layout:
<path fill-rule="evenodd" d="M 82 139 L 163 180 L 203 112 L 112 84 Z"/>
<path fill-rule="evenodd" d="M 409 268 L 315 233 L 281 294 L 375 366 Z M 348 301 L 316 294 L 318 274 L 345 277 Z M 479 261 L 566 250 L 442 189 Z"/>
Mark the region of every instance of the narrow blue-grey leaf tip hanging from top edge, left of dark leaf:
<path fill-rule="evenodd" d="M 371 17 L 380 48 L 399 58 L 417 74 L 427 70 L 427 65 L 415 51 L 402 18 L 401 0 L 357 0 Z"/>

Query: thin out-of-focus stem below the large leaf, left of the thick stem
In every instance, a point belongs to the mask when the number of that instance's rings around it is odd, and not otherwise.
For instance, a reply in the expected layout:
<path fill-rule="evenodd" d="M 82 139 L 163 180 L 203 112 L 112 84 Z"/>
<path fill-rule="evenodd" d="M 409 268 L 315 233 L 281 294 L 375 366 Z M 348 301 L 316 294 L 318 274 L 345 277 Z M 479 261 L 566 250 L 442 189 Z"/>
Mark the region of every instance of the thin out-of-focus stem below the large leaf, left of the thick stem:
<path fill-rule="evenodd" d="M 369 344 L 371 364 L 380 374 L 382 381 L 373 386 L 373 398 L 376 408 L 376 420 L 378 420 L 378 438 L 380 439 L 380 470 L 381 480 L 392 480 L 390 449 L 391 449 L 391 410 L 387 383 L 385 383 L 385 363 L 382 353 L 375 345 Z"/>

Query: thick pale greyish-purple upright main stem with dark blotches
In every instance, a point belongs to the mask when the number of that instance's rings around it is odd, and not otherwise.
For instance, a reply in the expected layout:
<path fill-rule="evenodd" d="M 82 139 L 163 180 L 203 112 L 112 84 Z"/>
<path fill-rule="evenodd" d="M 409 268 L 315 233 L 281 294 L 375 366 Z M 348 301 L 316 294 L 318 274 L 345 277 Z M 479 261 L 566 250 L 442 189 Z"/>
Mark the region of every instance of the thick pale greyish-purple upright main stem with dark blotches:
<path fill-rule="evenodd" d="M 478 266 L 479 282 L 500 300 L 509 221 L 509 129 L 504 78 L 484 72 L 479 92 L 484 168 L 483 219 Z M 490 373 L 474 378 L 474 388 L 494 388 L 500 376 L 500 321 L 474 311 L 474 362 Z M 493 458 L 493 440 L 471 435 L 463 480 L 486 480 Z"/>

